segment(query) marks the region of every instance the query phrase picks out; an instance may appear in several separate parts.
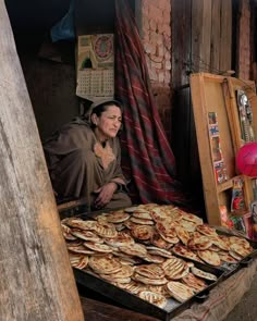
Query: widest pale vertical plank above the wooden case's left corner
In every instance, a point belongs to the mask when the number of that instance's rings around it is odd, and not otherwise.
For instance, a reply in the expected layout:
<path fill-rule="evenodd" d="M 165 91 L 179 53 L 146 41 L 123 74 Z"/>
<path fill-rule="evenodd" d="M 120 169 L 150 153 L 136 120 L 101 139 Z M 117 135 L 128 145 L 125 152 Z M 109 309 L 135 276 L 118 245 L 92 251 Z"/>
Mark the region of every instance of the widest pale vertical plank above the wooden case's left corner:
<path fill-rule="evenodd" d="M 210 70 L 211 0 L 192 2 L 192 59 L 194 72 Z"/>

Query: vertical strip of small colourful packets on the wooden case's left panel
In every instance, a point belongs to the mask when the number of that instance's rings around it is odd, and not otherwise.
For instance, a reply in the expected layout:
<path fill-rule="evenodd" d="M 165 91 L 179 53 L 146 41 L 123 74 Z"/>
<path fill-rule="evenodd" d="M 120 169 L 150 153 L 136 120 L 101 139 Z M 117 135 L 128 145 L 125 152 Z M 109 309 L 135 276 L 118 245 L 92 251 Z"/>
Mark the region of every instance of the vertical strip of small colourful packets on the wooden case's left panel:
<path fill-rule="evenodd" d="M 222 156 L 220 133 L 216 112 L 209 112 L 209 136 L 211 144 L 211 153 L 213 161 L 213 170 L 217 183 L 221 184 L 228 181 L 227 168 Z"/>

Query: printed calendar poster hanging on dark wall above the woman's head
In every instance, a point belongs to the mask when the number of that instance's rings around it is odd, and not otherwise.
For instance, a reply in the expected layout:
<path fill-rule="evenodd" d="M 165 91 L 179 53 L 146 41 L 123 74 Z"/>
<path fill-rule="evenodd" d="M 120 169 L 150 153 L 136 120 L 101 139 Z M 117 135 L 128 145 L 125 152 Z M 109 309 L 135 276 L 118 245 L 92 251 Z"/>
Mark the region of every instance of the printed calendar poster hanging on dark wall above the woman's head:
<path fill-rule="evenodd" d="M 78 36 L 76 95 L 93 101 L 113 99 L 113 34 Z"/>

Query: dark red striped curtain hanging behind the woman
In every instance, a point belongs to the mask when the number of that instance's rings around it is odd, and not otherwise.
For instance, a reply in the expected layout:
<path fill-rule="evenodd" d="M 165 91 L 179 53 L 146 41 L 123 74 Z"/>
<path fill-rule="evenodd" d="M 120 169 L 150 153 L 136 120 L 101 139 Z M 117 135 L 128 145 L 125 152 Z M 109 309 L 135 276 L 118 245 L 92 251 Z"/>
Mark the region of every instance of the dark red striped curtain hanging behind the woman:
<path fill-rule="evenodd" d="M 123 171 L 134 201 L 184 203 L 175 160 L 161 124 L 145 52 L 127 1 L 115 0 L 115 96 L 124 106 Z"/>

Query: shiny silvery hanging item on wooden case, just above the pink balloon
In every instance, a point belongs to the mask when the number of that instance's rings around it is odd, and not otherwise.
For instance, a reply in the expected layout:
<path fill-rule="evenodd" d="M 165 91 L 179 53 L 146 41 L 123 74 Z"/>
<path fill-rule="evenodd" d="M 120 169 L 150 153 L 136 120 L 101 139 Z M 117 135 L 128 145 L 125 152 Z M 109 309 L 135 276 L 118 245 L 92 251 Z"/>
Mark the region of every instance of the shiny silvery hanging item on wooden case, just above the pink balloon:
<path fill-rule="evenodd" d="M 253 111 L 244 90 L 236 90 L 241 135 L 244 143 L 255 141 L 253 129 Z"/>

